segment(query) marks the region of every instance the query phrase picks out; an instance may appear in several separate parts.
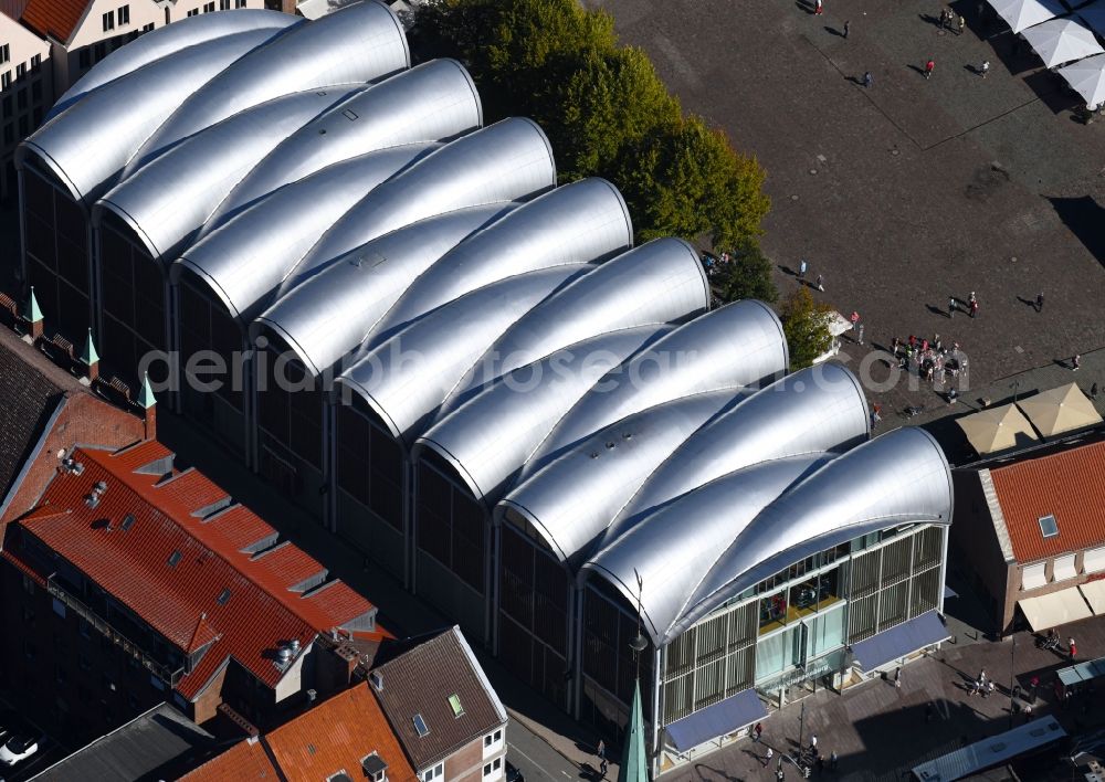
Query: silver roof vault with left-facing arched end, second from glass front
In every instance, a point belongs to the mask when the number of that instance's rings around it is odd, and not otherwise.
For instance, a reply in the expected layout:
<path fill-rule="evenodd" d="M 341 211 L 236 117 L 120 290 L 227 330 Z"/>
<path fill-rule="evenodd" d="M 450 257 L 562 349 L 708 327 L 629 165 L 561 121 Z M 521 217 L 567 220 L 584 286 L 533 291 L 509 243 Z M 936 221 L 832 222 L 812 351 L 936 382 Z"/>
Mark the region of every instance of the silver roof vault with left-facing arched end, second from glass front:
<path fill-rule="evenodd" d="M 661 340 L 663 341 L 663 340 Z M 743 389 L 683 397 L 596 432 L 499 500 L 525 517 L 561 561 L 585 553 L 656 466 Z"/>

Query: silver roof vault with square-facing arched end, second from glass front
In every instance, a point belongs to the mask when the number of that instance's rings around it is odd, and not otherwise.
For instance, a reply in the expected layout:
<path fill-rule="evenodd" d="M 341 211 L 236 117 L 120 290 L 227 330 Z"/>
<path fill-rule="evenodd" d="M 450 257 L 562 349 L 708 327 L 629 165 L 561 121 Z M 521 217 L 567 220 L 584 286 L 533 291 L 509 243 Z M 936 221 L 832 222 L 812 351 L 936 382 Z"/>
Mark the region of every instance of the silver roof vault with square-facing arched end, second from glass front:
<path fill-rule="evenodd" d="M 859 379 L 838 363 L 810 367 L 756 392 L 687 438 L 622 509 L 607 540 L 639 514 L 766 459 L 842 452 L 871 431 Z"/>

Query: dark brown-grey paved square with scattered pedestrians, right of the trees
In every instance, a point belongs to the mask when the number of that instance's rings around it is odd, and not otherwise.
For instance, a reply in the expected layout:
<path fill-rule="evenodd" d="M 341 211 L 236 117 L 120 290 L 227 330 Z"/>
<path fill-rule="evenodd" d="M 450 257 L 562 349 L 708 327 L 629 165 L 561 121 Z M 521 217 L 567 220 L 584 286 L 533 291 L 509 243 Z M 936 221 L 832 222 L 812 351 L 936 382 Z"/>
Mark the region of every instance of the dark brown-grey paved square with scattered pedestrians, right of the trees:
<path fill-rule="evenodd" d="M 781 267 L 807 257 L 869 344 L 939 332 L 970 356 L 976 387 L 1105 344 L 1105 120 L 1076 121 L 1062 78 L 1014 55 L 974 0 L 954 3 L 962 35 L 938 29 L 937 2 L 825 0 L 823 15 L 804 0 L 585 4 L 767 169 L 764 246 L 783 294 L 797 283 Z M 971 292 L 979 317 L 949 320 L 949 296 Z"/>

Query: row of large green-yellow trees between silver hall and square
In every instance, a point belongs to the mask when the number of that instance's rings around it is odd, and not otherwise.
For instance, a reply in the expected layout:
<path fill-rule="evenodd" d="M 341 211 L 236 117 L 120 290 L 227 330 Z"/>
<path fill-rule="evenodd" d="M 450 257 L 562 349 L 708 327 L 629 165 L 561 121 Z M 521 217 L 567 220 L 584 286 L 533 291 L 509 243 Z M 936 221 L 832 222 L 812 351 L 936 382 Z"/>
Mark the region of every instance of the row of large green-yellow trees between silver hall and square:
<path fill-rule="evenodd" d="M 683 115 L 644 52 L 618 43 L 608 13 L 577 0 L 428 0 L 413 38 L 424 56 L 464 63 L 486 123 L 536 120 L 561 182 L 604 177 L 618 186 L 639 241 L 756 243 L 769 209 L 764 170 L 720 130 Z"/>

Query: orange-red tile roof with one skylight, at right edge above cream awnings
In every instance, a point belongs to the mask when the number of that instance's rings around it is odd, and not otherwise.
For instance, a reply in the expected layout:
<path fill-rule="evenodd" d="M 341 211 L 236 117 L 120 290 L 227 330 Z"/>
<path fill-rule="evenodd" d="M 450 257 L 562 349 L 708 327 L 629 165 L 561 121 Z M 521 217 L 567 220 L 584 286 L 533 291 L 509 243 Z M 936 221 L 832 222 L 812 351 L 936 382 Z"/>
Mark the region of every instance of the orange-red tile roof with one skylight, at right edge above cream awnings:
<path fill-rule="evenodd" d="M 1105 443 L 996 467 L 990 477 L 1018 561 L 1105 545 Z M 1040 532 L 1049 514 L 1059 526 L 1053 538 Z"/>

